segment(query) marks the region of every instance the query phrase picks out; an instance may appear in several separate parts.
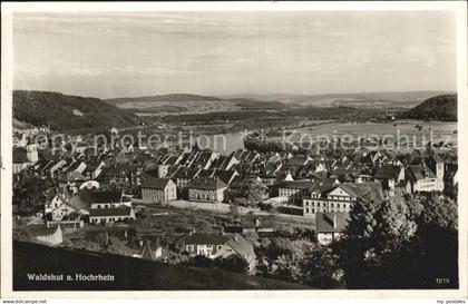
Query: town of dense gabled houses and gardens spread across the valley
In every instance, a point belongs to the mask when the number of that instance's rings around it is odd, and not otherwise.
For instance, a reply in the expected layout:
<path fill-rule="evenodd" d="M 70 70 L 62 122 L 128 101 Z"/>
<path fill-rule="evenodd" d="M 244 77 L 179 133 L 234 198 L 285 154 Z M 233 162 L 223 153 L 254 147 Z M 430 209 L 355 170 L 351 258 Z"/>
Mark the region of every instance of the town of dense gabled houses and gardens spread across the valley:
<path fill-rule="evenodd" d="M 335 247 L 353 217 L 388 203 L 404 209 L 394 217 L 412 220 L 413 205 L 446 208 L 457 198 L 455 149 L 223 154 L 197 145 L 104 147 L 86 135 L 60 149 L 38 143 L 50 135 L 47 127 L 13 135 L 17 241 L 344 287 L 351 277 Z"/>

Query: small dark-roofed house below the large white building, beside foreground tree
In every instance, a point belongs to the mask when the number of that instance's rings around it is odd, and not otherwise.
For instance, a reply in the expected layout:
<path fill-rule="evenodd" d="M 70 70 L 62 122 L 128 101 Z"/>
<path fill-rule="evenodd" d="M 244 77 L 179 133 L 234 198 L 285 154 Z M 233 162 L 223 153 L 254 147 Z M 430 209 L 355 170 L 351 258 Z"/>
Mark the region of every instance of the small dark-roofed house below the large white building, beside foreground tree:
<path fill-rule="evenodd" d="M 333 212 L 333 213 L 316 213 L 315 217 L 315 234 L 316 241 L 322 245 L 330 245 L 334 241 L 339 241 L 343 235 L 348 224 L 349 213 Z"/>

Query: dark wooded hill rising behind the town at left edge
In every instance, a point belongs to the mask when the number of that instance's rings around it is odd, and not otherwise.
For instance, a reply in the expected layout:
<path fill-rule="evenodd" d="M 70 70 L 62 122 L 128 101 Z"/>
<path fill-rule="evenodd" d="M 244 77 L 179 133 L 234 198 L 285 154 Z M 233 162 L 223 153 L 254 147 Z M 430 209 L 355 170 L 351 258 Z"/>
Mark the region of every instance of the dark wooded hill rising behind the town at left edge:
<path fill-rule="evenodd" d="M 52 130 L 129 127 L 137 117 L 101 99 L 51 91 L 13 91 L 13 118 L 35 126 L 49 124 Z"/>

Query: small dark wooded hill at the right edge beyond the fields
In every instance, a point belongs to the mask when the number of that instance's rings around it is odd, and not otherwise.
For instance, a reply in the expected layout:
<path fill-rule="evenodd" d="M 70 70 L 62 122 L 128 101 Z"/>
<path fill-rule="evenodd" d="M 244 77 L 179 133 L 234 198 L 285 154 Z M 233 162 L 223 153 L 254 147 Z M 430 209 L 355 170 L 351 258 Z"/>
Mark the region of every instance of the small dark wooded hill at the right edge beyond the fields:
<path fill-rule="evenodd" d="M 402 118 L 457 121 L 457 95 L 440 95 L 401 115 Z"/>

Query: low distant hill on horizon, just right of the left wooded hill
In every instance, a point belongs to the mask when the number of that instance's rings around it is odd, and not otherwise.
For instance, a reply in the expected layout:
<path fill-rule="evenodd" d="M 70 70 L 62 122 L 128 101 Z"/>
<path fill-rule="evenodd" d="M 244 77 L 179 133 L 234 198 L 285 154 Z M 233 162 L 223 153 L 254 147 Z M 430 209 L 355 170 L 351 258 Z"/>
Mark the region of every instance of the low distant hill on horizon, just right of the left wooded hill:
<path fill-rule="evenodd" d="M 223 100 L 217 97 L 212 96 L 202 96 L 193 94 L 167 94 L 167 95 L 155 95 L 155 96 L 142 96 L 142 97 L 123 97 L 123 98 L 110 98 L 105 99 L 105 101 L 110 104 L 120 104 L 120 102 L 156 102 L 156 101 L 217 101 Z"/>

